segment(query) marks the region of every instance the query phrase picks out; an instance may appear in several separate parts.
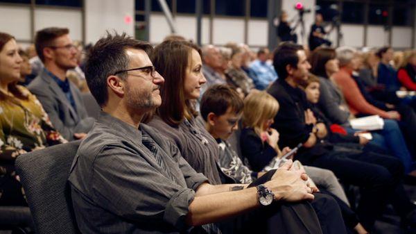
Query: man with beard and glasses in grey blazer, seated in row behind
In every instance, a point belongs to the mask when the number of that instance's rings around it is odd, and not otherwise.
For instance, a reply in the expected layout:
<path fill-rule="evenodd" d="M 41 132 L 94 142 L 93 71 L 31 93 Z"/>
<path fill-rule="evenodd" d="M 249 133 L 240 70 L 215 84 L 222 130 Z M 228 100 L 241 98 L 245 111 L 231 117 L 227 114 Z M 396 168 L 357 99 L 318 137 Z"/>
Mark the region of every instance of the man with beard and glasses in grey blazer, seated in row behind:
<path fill-rule="evenodd" d="M 66 74 L 77 66 L 76 47 L 68 28 L 37 31 L 35 48 L 44 69 L 28 86 L 51 118 L 53 126 L 67 140 L 85 137 L 95 119 L 88 117 L 81 92 Z"/>

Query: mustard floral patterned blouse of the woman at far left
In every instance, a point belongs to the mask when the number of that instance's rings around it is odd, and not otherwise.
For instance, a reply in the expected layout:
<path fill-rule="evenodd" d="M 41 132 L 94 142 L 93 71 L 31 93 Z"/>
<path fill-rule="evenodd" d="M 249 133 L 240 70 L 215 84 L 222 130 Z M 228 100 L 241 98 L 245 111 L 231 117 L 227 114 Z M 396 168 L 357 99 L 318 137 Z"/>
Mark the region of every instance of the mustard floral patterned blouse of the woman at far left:
<path fill-rule="evenodd" d="M 28 100 L 0 101 L 0 182 L 17 179 L 14 161 L 20 154 L 67 142 L 55 131 L 37 98 L 26 87 L 17 87 Z M 5 191 L 1 186 L 0 199 Z"/>

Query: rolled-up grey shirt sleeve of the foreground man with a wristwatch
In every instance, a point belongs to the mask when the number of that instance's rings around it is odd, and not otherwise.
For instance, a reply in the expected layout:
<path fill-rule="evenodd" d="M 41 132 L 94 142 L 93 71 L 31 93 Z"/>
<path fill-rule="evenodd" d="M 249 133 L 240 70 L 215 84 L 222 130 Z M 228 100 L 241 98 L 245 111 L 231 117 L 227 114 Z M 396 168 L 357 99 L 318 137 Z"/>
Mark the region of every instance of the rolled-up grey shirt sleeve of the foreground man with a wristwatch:
<path fill-rule="evenodd" d="M 162 175 L 145 158 L 108 145 L 94 160 L 93 197 L 99 206 L 130 220 L 163 219 L 183 230 L 195 192 Z"/>

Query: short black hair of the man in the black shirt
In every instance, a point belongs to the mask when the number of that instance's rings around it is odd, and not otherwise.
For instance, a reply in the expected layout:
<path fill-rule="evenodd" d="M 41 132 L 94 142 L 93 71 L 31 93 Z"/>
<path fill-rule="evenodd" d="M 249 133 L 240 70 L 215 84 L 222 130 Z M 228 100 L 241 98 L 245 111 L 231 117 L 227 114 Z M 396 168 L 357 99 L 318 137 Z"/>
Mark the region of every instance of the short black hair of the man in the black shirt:
<path fill-rule="evenodd" d="M 303 47 L 300 44 L 295 44 L 293 42 L 281 42 L 281 44 L 279 44 L 273 56 L 273 67 L 275 67 L 279 78 L 288 77 L 286 65 L 297 68 L 297 62 L 299 62 L 297 51 L 300 50 L 303 50 Z"/>

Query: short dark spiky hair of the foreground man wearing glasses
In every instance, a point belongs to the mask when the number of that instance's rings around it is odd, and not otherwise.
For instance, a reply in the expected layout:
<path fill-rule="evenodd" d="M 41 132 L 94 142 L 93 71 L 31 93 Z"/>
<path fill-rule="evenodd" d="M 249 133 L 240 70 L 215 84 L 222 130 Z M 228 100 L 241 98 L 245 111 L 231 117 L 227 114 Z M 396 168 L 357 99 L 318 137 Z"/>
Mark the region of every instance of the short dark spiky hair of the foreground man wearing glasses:
<path fill-rule="evenodd" d="M 107 32 L 107 36 L 98 40 L 87 53 L 85 78 L 89 90 L 101 107 L 108 101 L 107 77 L 129 69 L 130 59 L 125 53 L 126 49 L 141 49 L 147 54 L 153 51 L 153 47 L 148 42 L 135 40 L 125 33 L 112 35 Z M 126 73 L 122 72 L 117 76 L 125 78 Z"/>

